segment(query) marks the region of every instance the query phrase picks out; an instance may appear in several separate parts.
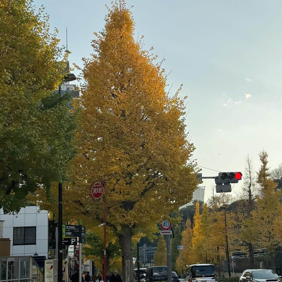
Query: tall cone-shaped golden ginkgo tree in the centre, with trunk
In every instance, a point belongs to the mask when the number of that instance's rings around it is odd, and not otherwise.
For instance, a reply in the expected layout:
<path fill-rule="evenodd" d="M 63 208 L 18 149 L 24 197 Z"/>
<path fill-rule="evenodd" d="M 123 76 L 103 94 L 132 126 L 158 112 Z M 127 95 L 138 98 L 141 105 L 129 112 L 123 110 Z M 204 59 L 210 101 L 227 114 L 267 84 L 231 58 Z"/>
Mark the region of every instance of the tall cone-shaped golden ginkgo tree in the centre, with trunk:
<path fill-rule="evenodd" d="M 88 225 L 103 222 L 103 197 L 92 201 L 89 187 L 97 179 L 105 182 L 107 228 L 119 239 L 125 277 L 132 236 L 152 236 L 162 217 L 191 200 L 194 146 L 180 89 L 173 95 L 166 91 L 165 70 L 141 41 L 135 42 L 135 24 L 123 1 L 114 3 L 105 22 L 92 41 L 94 53 L 83 59 L 80 149 L 63 202 L 68 217 L 81 217 Z"/>

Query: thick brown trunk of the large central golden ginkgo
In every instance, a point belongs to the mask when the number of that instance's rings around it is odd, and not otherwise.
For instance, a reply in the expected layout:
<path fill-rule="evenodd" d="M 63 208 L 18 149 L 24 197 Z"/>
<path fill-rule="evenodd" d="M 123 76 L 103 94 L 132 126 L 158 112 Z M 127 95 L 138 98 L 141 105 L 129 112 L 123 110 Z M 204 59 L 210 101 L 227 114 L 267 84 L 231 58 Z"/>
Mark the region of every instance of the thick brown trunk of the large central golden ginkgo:
<path fill-rule="evenodd" d="M 125 261 L 129 260 L 129 282 L 135 282 L 135 272 L 133 267 L 133 257 L 131 250 L 132 228 L 123 225 L 121 234 L 118 236 L 122 249 L 122 281 L 125 282 Z"/>

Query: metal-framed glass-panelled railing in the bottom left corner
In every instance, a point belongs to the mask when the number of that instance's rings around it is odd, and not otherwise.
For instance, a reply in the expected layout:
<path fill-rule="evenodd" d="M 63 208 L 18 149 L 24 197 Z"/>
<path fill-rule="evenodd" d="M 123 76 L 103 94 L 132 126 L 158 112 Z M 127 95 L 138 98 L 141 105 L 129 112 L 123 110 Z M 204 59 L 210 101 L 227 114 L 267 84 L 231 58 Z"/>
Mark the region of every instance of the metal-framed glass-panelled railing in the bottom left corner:
<path fill-rule="evenodd" d="M 0 282 L 43 282 L 44 275 L 32 256 L 0 257 Z"/>

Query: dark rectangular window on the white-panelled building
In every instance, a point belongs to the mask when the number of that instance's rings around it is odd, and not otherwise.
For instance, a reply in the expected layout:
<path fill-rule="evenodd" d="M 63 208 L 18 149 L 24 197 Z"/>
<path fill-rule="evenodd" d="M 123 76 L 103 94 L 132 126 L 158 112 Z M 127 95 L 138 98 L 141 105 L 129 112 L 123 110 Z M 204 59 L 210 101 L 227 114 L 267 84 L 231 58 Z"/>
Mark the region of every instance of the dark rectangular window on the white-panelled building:
<path fill-rule="evenodd" d="M 13 245 L 35 245 L 36 226 L 14 227 Z"/>

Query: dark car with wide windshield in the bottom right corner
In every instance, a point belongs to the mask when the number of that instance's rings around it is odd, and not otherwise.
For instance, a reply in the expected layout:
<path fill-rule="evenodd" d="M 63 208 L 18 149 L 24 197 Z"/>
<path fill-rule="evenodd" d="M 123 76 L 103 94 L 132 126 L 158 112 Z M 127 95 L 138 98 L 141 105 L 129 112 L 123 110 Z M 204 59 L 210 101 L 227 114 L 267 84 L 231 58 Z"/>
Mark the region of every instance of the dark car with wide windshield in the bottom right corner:
<path fill-rule="evenodd" d="M 281 276 L 279 276 L 272 269 L 247 269 L 245 270 L 241 277 L 240 282 L 253 281 L 253 282 L 266 282 L 266 281 L 282 281 Z"/>

